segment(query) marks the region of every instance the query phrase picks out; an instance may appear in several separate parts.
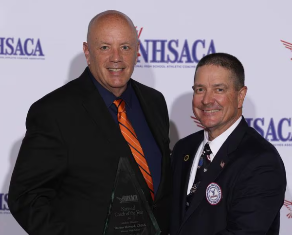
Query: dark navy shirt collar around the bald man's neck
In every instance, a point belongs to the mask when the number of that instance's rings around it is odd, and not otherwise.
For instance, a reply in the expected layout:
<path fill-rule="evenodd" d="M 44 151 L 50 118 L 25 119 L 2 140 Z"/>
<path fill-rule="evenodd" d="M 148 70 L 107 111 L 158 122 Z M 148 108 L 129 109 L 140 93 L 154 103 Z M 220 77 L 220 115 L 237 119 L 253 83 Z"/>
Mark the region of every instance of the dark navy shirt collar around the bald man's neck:
<path fill-rule="evenodd" d="M 129 108 L 132 108 L 132 85 L 131 85 L 131 80 L 128 81 L 128 86 L 127 89 L 121 94 L 121 96 L 116 97 L 113 93 L 111 93 L 109 90 L 105 89 L 92 75 L 90 69 L 87 67 L 87 71 L 89 73 L 89 76 L 94 83 L 95 87 L 97 88 L 99 94 L 103 98 L 104 102 L 106 103 L 106 106 L 110 108 L 110 106 L 113 104 L 113 102 L 118 99 L 122 98 L 125 102 L 126 105 Z"/>

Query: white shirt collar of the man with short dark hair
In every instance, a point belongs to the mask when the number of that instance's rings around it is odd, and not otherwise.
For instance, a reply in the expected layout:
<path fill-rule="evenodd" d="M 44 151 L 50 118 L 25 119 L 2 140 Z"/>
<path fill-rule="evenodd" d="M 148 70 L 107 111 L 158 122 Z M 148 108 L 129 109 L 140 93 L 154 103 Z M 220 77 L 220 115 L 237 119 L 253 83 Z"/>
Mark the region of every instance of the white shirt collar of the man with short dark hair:
<path fill-rule="evenodd" d="M 226 141 L 226 139 L 228 138 L 228 136 L 232 133 L 232 131 L 234 131 L 234 129 L 238 126 L 238 124 L 240 123 L 242 117 L 240 116 L 237 121 L 232 124 L 231 127 L 229 127 L 227 130 L 225 130 L 222 134 L 220 134 L 219 136 L 217 136 L 214 140 L 209 141 L 209 135 L 208 132 L 205 130 L 204 131 L 204 140 L 203 140 L 203 144 L 205 145 L 206 143 L 209 142 L 210 145 L 210 149 L 215 157 L 215 155 L 218 153 L 220 147 L 223 145 L 223 143 Z"/>

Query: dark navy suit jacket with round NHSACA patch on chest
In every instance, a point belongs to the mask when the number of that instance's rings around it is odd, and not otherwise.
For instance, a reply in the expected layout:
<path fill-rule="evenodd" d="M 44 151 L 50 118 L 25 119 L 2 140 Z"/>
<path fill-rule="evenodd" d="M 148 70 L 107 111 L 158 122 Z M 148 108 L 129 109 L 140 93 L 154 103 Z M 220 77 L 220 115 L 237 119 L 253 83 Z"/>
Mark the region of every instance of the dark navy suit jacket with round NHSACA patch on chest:
<path fill-rule="evenodd" d="M 202 140 L 203 130 L 183 138 L 173 149 L 170 234 L 279 234 L 279 211 L 286 190 L 285 168 L 275 147 L 248 127 L 244 118 L 220 147 L 185 213 L 190 170 Z M 186 155 L 190 159 L 184 161 Z M 211 205 L 206 198 L 211 182 L 221 188 L 217 205 Z"/>

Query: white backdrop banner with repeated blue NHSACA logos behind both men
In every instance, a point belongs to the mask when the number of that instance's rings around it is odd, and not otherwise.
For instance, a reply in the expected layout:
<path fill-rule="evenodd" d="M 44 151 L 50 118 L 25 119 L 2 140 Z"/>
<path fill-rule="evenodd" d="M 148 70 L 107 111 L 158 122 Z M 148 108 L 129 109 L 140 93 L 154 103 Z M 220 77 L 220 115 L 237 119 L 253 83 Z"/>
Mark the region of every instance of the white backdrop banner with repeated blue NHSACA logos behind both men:
<path fill-rule="evenodd" d="M 134 22 L 141 42 L 132 78 L 164 94 L 171 147 L 201 129 L 192 113 L 196 65 L 225 52 L 243 64 L 243 115 L 276 146 L 287 173 L 281 235 L 292 233 L 291 0 L 0 0 L 0 235 L 25 235 L 7 206 L 32 103 L 78 77 L 88 23 L 105 10 Z"/>

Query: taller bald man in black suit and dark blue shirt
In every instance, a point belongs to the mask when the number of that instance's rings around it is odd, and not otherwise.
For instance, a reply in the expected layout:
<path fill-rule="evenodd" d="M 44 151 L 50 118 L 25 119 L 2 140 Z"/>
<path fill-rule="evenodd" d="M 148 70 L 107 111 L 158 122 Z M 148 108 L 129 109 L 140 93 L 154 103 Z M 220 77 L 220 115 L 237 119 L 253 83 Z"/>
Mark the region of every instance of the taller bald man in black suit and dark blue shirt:
<path fill-rule="evenodd" d="M 168 234 L 168 112 L 160 92 L 130 79 L 139 50 L 136 29 L 123 13 L 106 11 L 91 20 L 87 41 L 83 50 L 88 68 L 28 112 L 10 183 L 10 211 L 30 235 L 101 235 L 124 157 L 162 234 Z M 113 104 L 117 99 L 126 103 L 153 188 L 120 130 Z"/>

